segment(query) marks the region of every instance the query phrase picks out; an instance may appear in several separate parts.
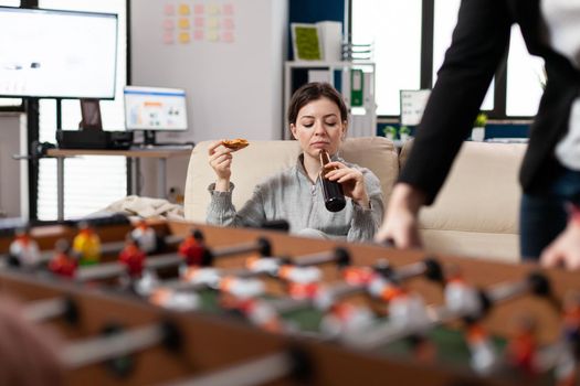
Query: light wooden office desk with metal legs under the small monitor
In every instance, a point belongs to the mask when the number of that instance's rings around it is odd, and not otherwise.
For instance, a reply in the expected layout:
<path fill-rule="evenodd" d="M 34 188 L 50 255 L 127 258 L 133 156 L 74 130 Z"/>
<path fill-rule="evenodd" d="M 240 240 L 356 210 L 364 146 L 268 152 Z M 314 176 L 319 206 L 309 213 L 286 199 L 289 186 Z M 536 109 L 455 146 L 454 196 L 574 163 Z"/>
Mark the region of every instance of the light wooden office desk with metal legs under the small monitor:
<path fill-rule="evenodd" d="M 155 147 L 138 148 L 129 150 L 95 150 L 95 149 L 50 149 L 46 156 L 56 158 L 56 210 L 57 219 L 64 219 L 64 159 L 77 156 L 122 156 L 136 160 L 137 170 L 139 159 L 157 159 L 157 194 L 166 197 L 167 194 L 167 159 L 176 157 L 189 157 L 192 148 L 187 147 Z M 138 173 L 137 173 L 138 179 Z M 133 183 L 129 191 L 134 191 Z"/>

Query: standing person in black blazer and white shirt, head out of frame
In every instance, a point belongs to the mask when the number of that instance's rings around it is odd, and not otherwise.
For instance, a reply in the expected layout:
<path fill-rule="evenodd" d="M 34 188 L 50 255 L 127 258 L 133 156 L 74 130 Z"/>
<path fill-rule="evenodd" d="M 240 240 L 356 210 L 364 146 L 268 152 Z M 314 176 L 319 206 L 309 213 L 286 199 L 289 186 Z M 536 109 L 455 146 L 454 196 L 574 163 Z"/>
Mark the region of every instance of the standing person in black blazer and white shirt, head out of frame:
<path fill-rule="evenodd" d="M 570 21 L 574 13 L 579 18 Z M 580 106 L 580 4 L 569 0 L 462 1 L 452 44 L 376 240 L 389 239 L 401 248 L 421 246 L 419 210 L 433 203 L 472 129 L 514 23 L 528 51 L 544 57 L 548 78 L 519 175 L 521 256 L 538 258 L 566 228 L 542 259 L 580 268 L 580 219 L 568 222 L 566 211 L 567 203 L 580 204 L 580 167 L 563 165 L 556 154 L 569 128 L 580 126 L 578 117 L 570 119 L 574 101 Z M 580 142 L 571 152 L 580 157 Z M 570 230 L 574 225 L 578 235 Z M 576 243 L 576 248 L 559 247 L 561 243 Z"/>

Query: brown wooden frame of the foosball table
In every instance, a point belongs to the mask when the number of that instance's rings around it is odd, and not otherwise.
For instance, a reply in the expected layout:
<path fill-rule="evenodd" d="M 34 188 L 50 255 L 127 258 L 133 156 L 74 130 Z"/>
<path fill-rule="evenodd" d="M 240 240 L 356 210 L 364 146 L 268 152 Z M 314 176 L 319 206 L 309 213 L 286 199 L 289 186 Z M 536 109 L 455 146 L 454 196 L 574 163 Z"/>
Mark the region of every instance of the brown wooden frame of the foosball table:
<path fill-rule="evenodd" d="M 298 238 L 283 233 L 260 229 L 219 228 L 181 222 L 156 223 L 160 234 L 184 236 L 192 227 L 203 232 L 209 247 L 230 246 L 266 237 L 272 243 L 274 256 L 298 256 L 327 250 L 338 246 L 348 249 L 354 265 L 372 265 L 386 258 L 394 268 L 420 261 L 423 251 L 396 250 L 377 245 L 335 243 L 329 240 Z M 103 242 L 119 240 L 129 230 L 126 225 L 103 227 Z M 49 226 L 33 229 L 33 236 L 42 249 L 51 249 L 59 237 L 72 238 L 74 229 L 67 226 Z M 6 251 L 8 238 L 0 239 L 0 251 Z M 240 266 L 249 255 L 219 261 L 221 267 Z M 451 256 L 435 257 L 443 265 L 461 267 L 467 282 L 486 288 L 505 281 L 526 278 L 539 268 L 535 265 L 507 265 L 493 261 Z M 338 280 L 334 267 L 326 267 L 325 280 Z M 569 289 L 580 290 L 580 274 L 563 270 L 542 270 L 552 292 L 562 299 Z M 424 297 L 425 302 L 443 302 L 441 286 L 418 278 L 410 287 Z M 92 364 L 66 372 L 71 385 L 144 385 L 165 384 L 194 378 L 220 372 L 236 364 L 266 357 L 267 355 L 299 350 L 308 358 L 309 377 L 298 380 L 308 385 L 502 385 L 505 379 L 478 377 L 465 368 L 452 368 L 434 364 L 414 363 L 399 357 L 377 355 L 371 352 L 345 347 L 337 343 L 318 342 L 306 337 L 274 334 L 261 331 L 236 320 L 200 312 L 168 311 L 130 296 L 113 293 L 103 287 L 87 287 L 74 281 L 31 276 L 17 270 L 0 271 L 0 291 L 23 302 L 67 297 L 76 304 L 78 322 L 54 321 L 66 340 L 74 341 L 97 336 L 110 323 L 130 330 L 148 324 L 169 321 L 177 328 L 178 347 L 157 345 L 134 354 L 135 366 L 124 376 L 113 375 L 103 364 Z M 548 301 L 525 296 L 494 307 L 485 318 L 488 331 L 508 336 L 512 331 L 507 321 L 515 312 L 529 312 L 538 322 L 539 341 L 552 342 L 561 329 L 560 315 Z M 457 323 L 458 326 L 458 323 Z M 286 377 L 273 384 L 294 385 L 296 379 Z M 532 379 L 530 380 L 532 384 Z"/>

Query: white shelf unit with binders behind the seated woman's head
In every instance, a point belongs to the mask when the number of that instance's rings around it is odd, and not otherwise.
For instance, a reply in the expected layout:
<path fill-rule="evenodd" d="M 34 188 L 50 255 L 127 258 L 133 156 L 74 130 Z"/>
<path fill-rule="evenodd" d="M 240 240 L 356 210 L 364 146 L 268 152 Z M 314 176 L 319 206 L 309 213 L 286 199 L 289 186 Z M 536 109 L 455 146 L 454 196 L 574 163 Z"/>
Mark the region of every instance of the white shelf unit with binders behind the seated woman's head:
<path fill-rule="evenodd" d="M 318 73 L 314 73 L 315 71 Z M 286 62 L 284 65 L 284 111 L 288 109 L 292 94 L 303 84 L 310 82 L 313 77 L 315 81 L 330 83 L 342 94 L 350 112 L 349 137 L 377 135 L 373 62 Z M 352 106 L 352 97 L 356 95 L 352 88 L 355 90 L 361 88 L 362 95 L 357 96 L 357 106 Z M 284 127 L 282 138 L 291 139 L 285 118 L 282 127 Z"/>

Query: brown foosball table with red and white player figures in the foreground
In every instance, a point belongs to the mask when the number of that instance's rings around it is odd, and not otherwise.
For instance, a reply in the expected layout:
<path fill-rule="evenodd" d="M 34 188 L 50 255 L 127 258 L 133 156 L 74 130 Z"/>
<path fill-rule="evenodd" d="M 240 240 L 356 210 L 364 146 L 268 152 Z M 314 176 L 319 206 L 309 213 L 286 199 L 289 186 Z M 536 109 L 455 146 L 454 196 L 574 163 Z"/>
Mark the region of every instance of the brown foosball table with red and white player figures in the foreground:
<path fill-rule="evenodd" d="M 64 384 L 578 382 L 574 272 L 120 217 L 9 227 L 0 254 Z"/>

